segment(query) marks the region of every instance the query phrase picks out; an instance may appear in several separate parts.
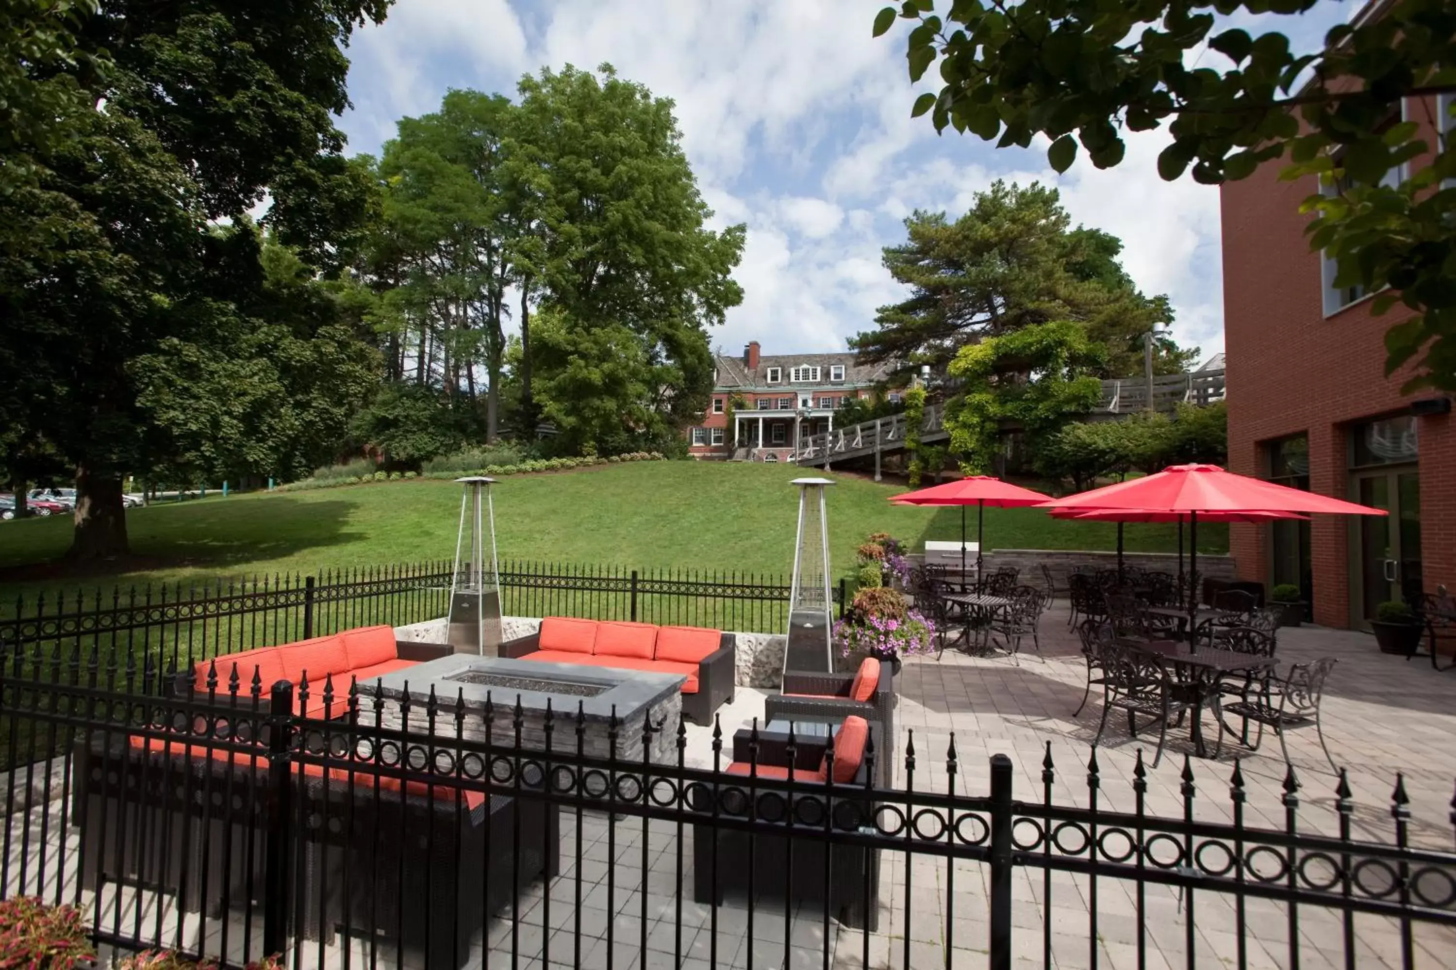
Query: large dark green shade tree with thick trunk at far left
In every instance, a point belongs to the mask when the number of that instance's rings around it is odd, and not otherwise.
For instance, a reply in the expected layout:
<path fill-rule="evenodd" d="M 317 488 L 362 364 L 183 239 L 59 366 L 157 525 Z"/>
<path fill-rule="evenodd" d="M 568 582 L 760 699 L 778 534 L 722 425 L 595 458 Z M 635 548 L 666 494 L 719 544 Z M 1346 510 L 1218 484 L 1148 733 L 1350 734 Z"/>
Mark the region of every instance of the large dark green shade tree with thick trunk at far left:
<path fill-rule="evenodd" d="M 159 441 L 176 446 L 143 390 L 189 366 L 185 348 L 217 361 L 210 332 L 248 313 L 232 294 L 256 279 L 258 241 L 217 227 L 266 195 L 269 231 L 307 265 L 352 257 L 371 183 L 332 119 L 348 105 L 341 48 L 387 7 L 116 0 L 76 23 L 76 68 L 23 65 L 29 80 L 68 74 L 84 108 L 0 145 L 6 167 L 35 173 L 0 198 L 0 423 L 74 467 L 73 557 L 127 551 L 122 476 L 175 460 Z M 103 71 L 83 70 L 103 54 Z"/>

